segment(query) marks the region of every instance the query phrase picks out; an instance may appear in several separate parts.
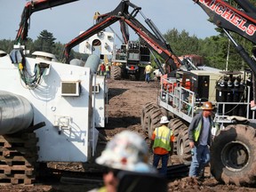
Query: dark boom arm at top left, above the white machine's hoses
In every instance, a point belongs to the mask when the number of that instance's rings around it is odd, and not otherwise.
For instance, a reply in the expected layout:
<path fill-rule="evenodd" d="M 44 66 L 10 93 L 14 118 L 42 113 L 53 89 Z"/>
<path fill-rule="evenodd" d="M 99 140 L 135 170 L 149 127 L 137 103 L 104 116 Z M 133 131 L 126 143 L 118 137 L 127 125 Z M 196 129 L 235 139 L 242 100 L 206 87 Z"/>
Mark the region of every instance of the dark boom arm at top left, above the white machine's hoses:
<path fill-rule="evenodd" d="M 33 0 L 29 1 L 21 14 L 20 28 L 18 30 L 17 36 L 15 38 L 16 44 L 21 44 L 27 39 L 29 19 L 33 12 L 38 12 L 44 9 L 59 6 L 61 4 L 68 4 L 78 0 Z"/>

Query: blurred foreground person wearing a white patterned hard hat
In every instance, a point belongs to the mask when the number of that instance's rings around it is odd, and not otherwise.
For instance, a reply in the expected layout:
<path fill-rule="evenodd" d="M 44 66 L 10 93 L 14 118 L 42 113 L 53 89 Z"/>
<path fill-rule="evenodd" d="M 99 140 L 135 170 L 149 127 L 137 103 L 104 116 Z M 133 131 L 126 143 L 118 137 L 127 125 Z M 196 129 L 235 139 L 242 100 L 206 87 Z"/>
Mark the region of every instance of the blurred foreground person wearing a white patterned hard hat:
<path fill-rule="evenodd" d="M 110 140 L 96 163 L 108 168 L 103 174 L 104 187 L 91 192 L 116 192 L 118 174 L 122 171 L 156 173 L 156 168 L 148 164 L 148 145 L 137 132 L 123 131 Z"/>

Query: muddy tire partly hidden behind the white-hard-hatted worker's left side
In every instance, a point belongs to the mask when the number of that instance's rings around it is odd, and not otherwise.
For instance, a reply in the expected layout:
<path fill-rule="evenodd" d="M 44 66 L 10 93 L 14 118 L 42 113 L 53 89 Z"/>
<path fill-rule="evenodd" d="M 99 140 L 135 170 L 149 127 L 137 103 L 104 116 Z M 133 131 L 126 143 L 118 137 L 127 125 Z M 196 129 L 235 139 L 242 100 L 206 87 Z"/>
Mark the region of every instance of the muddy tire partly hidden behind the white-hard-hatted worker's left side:
<path fill-rule="evenodd" d="M 164 108 L 150 110 L 148 116 L 148 138 L 151 138 L 156 127 L 161 125 L 159 123 L 162 116 L 167 116 L 167 112 Z"/>

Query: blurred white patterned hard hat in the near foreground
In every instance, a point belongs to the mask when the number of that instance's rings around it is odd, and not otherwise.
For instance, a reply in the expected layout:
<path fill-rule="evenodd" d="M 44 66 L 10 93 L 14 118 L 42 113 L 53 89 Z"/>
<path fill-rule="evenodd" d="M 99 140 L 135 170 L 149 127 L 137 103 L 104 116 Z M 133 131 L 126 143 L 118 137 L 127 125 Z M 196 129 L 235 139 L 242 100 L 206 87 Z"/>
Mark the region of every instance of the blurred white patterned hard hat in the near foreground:
<path fill-rule="evenodd" d="M 114 136 L 96 158 L 96 163 L 131 172 L 156 172 L 148 164 L 148 145 L 136 132 L 123 131 Z"/>

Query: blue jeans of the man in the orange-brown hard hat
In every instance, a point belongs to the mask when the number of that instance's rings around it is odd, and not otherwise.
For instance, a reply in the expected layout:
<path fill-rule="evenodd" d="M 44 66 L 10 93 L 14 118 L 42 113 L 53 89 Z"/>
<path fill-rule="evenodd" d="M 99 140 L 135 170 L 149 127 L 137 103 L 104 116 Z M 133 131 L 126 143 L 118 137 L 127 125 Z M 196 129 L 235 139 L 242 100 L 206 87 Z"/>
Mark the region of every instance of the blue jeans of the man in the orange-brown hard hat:
<path fill-rule="evenodd" d="M 210 162 L 208 146 L 198 145 L 193 148 L 194 155 L 189 169 L 189 177 L 198 177 L 200 172 L 204 174 L 204 167 Z"/>

